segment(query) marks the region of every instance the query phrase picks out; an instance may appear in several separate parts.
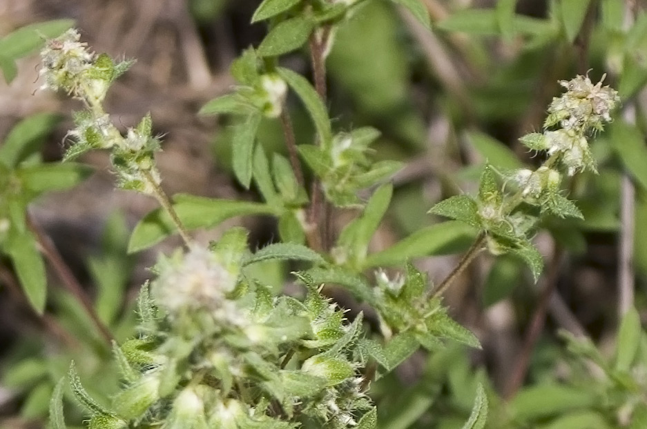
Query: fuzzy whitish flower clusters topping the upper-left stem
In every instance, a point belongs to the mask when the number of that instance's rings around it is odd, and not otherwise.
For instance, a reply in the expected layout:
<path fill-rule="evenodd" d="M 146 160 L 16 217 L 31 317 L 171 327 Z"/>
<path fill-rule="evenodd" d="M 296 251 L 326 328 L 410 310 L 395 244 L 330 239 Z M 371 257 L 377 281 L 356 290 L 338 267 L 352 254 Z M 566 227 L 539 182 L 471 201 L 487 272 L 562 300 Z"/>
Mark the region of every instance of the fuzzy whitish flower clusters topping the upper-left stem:
<path fill-rule="evenodd" d="M 88 106 L 75 114 L 76 128 L 66 136 L 73 137 L 75 143 L 64 159 L 92 149 L 108 149 L 120 188 L 156 194 L 161 179 L 154 154 L 160 149 L 160 142 L 151 135 L 151 117 L 146 116 L 137 127 L 128 128 L 124 137 L 102 105 L 110 84 L 132 61 L 115 63 L 107 54 L 90 52 L 79 39 L 78 30 L 70 29 L 49 40 L 41 51 L 40 74 L 45 78 L 42 88 L 65 90 Z"/>

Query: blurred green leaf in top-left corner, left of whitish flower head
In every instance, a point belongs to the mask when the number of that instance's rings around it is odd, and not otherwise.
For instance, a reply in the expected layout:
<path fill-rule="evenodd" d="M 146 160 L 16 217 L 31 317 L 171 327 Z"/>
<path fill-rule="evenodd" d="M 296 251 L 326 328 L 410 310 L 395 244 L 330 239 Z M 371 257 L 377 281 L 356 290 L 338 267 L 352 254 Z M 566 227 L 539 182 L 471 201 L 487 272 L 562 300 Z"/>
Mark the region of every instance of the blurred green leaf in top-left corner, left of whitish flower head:
<path fill-rule="evenodd" d="M 73 25 L 72 19 L 55 19 L 21 27 L 0 39 L 0 52 L 10 59 L 25 57 L 43 46 L 45 39 L 58 37 Z"/>

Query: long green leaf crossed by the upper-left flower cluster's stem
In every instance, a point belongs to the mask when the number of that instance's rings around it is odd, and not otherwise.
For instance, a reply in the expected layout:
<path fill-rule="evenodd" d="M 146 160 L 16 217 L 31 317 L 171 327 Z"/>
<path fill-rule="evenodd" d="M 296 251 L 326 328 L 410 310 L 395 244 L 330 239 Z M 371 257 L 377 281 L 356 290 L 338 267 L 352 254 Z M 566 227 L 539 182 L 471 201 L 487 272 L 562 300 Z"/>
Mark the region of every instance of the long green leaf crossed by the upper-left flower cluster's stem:
<path fill-rule="evenodd" d="M 211 199 L 187 194 L 175 195 L 173 199 L 175 200 L 173 208 L 177 216 L 189 230 L 213 228 L 222 221 L 236 216 L 277 214 L 276 209 L 267 204 L 249 201 Z M 175 230 L 175 224 L 164 210 L 161 208 L 153 210 L 135 226 L 128 241 L 128 253 L 154 246 L 173 234 Z"/>

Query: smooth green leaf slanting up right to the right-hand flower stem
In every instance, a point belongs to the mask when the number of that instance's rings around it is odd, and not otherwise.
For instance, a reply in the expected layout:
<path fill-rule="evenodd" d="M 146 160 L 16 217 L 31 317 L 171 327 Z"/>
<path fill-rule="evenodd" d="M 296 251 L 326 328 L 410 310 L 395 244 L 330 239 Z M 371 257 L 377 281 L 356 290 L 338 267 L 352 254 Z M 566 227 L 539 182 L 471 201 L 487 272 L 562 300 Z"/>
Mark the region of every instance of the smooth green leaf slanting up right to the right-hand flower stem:
<path fill-rule="evenodd" d="M 395 266 L 416 257 L 460 252 L 470 245 L 475 236 L 474 228 L 465 223 L 438 223 L 414 232 L 381 252 L 369 255 L 364 268 Z"/>

